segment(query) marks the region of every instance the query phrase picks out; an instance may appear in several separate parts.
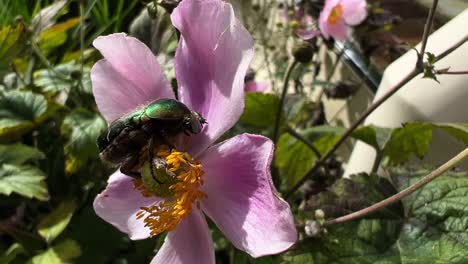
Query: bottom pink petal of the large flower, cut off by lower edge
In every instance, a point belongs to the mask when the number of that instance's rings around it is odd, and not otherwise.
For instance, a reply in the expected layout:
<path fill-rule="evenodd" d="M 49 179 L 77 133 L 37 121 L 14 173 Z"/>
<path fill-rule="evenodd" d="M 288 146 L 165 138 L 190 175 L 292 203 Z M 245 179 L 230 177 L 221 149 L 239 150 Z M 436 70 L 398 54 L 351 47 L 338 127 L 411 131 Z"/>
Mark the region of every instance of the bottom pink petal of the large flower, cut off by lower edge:
<path fill-rule="evenodd" d="M 187 1 L 187 0 L 186 0 Z M 205 217 L 197 209 L 169 232 L 151 264 L 215 263 L 213 241 Z"/>

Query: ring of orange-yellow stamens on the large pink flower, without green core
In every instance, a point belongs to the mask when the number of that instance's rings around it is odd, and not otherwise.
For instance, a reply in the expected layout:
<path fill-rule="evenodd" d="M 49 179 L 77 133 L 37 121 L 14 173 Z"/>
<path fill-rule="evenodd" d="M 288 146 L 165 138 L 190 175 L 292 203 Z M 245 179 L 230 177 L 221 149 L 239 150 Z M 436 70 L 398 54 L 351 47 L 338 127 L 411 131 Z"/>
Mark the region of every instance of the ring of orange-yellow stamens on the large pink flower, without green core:
<path fill-rule="evenodd" d="M 170 172 L 175 173 L 177 181 L 169 189 L 174 195 L 165 198 L 149 207 L 141 207 L 137 219 L 143 219 L 151 236 L 174 230 L 182 219 L 192 212 L 192 205 L 200 208 L 199 199 L 206 198 L 200 191 L 203 185 L 203 170 L 200 162 L 186 152 L 180 152 L 162 145 L 155 150 L 155 155 L 165 160 Z M 134 180 L 134 188 L 144 197 L 155 196 L 144 185 L 142 180 Z"/>

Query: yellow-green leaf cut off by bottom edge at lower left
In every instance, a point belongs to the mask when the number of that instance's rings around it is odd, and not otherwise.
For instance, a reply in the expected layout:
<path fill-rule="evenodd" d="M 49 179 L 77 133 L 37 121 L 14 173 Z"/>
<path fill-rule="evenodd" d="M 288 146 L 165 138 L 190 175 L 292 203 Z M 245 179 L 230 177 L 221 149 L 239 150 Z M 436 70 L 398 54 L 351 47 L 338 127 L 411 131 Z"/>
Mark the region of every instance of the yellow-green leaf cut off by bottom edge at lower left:
<path fill-rule="evenodd" d="M 69 263 L 72 259 L 80 256 L 80 254 L 80 245 L 72 239 L 67 239 L 34 256 L 27 264 Z"/>

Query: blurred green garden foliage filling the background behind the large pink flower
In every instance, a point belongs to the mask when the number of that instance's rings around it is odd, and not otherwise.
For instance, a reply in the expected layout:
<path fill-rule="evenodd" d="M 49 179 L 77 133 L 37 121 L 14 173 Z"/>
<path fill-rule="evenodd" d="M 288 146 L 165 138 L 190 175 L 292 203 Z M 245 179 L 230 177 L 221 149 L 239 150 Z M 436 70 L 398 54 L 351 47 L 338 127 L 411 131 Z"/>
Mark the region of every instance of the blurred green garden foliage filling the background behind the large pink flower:
<path fill-rule="evenodd" d="M 151 48 L 176 87 L 172 58 L 177 32 L 167 13 L 174 1 L 157 2 L 0 0 L 0 263 L 149 263 L 161 245 L 163 235 L 132 241 L 94 213 L 93 199 L 115 168 L 98 156 L 96 138 L 107 124 L 97 111 L 89 78 L 100 59 L 92 41 L 129 32 Z M 323 6 L 323 1 L 297 3 L 315 18 Z M 247 94 L 240 122 L 225 137 L 242 132 L 273 137 L 272 124 L 279 118 L 272 175 L 278 189 L 287 193 L 344 132 L 343 126 L 326 120 L 322 95 L 346 100 L 365 80 L 331 81 L 336 62 L 314 57 L 292 71 L 294 91 L 277 116 L 292 47 L 302 43 L 291 19 L 295 7 L 288 1 L 233 4 L 256 39 L 253 76 L 258 71 L 270 91 Z M 356 29 L 356 42 L 368 43 L 365 37 L 372 32 L 390 34 L 400 21 L 378 1 L 369 6 L 368 20 Z M 386 63 L 408 49 L 394 40 L 384 43 Z M 313 54 L 336 53 L 339 61 L 333 41 L 316 39 L 307 45 Z M 360 51 L 379 50 L 374 45 Z M 379 71 L 373 57 L 368 58 L 369 68 Z M 323 72 L 330 78 L 320 77 Z M 311 96 L 315 91 L 322 94 Z M 467 263 L 468 179 L 460 172 L 450 172 L 364 219 L 320 227 L 324 217 L 369 206 L 428 172 L 422 165 L 401 165 L 426 154 L 435 130 L 468 144 L 468 126 L 463 124 L 358 129 L 352 138 L 378 151 L 377 165 L 388 168 L 385 177 L 372 173 L 343 179 L 343 157 L 337 154 L 289 197 L 300 233 L 295 247 L 253 259 L 210 223 L 218 263 Z"/>

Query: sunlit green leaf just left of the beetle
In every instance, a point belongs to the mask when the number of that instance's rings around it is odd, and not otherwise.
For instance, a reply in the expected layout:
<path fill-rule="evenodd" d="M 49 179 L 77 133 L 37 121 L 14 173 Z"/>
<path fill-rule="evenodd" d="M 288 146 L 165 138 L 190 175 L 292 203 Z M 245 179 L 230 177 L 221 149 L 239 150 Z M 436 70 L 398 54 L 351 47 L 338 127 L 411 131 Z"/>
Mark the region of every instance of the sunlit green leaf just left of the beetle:
<path fill-rule="evenodd" d="M 70 135 L 65 151 L 81 159 L 97 157 L 96 139 L 106 127 L 106 121 L 97 113 L 74 110 L 65 117 L 61 128 L 63 134 Z"/>

